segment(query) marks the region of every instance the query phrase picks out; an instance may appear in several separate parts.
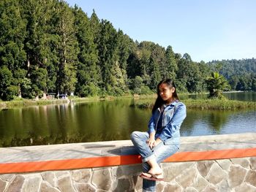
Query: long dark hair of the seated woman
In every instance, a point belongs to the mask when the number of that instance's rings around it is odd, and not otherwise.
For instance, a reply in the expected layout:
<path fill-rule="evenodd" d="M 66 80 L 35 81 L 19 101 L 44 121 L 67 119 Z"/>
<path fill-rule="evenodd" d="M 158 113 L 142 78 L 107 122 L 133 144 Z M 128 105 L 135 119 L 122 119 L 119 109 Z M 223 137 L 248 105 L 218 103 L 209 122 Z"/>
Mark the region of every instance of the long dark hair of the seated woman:
<path fill-rule="evenodd" d="M 165 101 L 162 100 L 161 96 L 160 96 L 160 91 L 159 91 L 159 86 L 162 84 L 166 84 L 168 86 L 168 88 L 175 88 L 175 91 L 173 92 L 173 98 L 176 100 L 178 99 L 178 95 L 176 93 L 176 85 L 174 84 L 173 80 L 171 79 L 166 79 L 166 80 L 162 80 L 158 83 L 157 85 L 157 100 L 154 103 L 154 107 L 152 109 L 152 113 L 157 110 L 159 107 L 162 106 L 162 104 L 165 104 Z"/>

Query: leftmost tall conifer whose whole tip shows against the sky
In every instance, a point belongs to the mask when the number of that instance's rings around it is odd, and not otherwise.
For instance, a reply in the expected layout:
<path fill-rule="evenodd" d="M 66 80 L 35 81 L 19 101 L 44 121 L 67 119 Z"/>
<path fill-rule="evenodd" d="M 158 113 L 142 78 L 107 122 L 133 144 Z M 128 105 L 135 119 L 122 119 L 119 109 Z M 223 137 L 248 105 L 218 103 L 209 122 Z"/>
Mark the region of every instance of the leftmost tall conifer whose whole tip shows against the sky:
<path fill-rule="evenodd" d="M 90 21 L 82 9 L 75 7 L 75 31 L 78 39 L 78 82 L 75 85 L 79 96 L 95 96 L 99 91 L 100 69 L 97 66 L 98 51 Z"/>

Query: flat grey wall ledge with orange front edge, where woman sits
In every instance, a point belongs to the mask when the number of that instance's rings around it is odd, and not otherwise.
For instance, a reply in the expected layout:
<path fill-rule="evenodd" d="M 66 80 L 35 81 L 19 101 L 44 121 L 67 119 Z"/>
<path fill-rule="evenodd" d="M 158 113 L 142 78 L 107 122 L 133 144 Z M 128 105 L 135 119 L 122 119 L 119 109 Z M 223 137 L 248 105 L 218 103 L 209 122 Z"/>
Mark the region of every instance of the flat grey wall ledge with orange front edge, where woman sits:
<path fill-rule="evenodd" d="M 167 162 L 256 156 L 256 133 L 181 137 L 178 153 Z M 0 174 L 140 164 L 130 140 L 30 147 L 0 147 Z M 19 168 L 20 166 L 20 168 Z M 13 169 L 15 167 L 15 169 Z"/>

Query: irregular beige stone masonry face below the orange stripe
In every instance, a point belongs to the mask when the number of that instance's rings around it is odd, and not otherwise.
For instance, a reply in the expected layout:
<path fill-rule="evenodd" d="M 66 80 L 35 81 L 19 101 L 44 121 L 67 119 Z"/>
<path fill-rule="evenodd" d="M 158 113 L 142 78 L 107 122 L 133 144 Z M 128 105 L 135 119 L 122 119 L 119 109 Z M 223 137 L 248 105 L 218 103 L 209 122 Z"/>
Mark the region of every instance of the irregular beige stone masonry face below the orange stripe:
<path fill-rule="evenodd" d="M 141 165 L 0 174 L 4 192 L 142 191 Z M 165 182 L 157 191 L 256 192 L 256 157 L 163 163 Z"/>

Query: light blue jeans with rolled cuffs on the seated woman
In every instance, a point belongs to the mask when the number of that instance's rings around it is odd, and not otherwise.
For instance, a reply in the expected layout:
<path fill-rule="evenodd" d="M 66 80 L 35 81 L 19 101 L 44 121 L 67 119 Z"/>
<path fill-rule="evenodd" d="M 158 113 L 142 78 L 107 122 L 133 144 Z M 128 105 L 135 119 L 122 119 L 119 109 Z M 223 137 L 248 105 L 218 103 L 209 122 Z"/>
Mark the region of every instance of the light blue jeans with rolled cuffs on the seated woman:
<path fill-rule="evenodd" d="M 146 161 L 155 158 L 157 163 L 160 164 L 165 158 L 176 153 L 179 147 L 178 145 L 165 145 L 164 142 L 160 142 L 151 149 L 146 143 L 148 138 L 148 132 L 134 131 L 131 134 L 132 143 L 142 158 L 143 172 L 148 172 L 151 168 Z M 143 179 L 143 191 L 156 191 L 156 181 Z"/>

